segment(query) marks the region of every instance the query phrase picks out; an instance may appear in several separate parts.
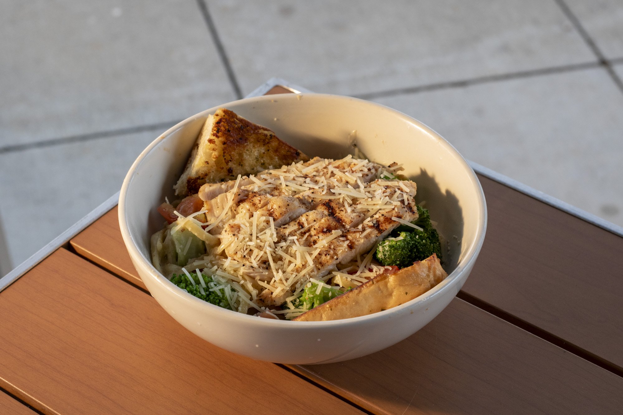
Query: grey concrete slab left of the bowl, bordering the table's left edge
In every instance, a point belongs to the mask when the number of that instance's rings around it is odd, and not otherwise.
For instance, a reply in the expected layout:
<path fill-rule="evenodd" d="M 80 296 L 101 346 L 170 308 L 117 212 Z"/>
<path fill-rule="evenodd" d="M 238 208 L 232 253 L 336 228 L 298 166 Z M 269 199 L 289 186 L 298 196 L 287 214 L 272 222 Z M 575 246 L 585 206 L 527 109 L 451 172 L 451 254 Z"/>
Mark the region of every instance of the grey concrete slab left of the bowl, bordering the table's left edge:
<path fill-rule="evenodd" d="M 0 219 L 15 267 L 115 194 L 163 131 L 0 155 Z"/>

